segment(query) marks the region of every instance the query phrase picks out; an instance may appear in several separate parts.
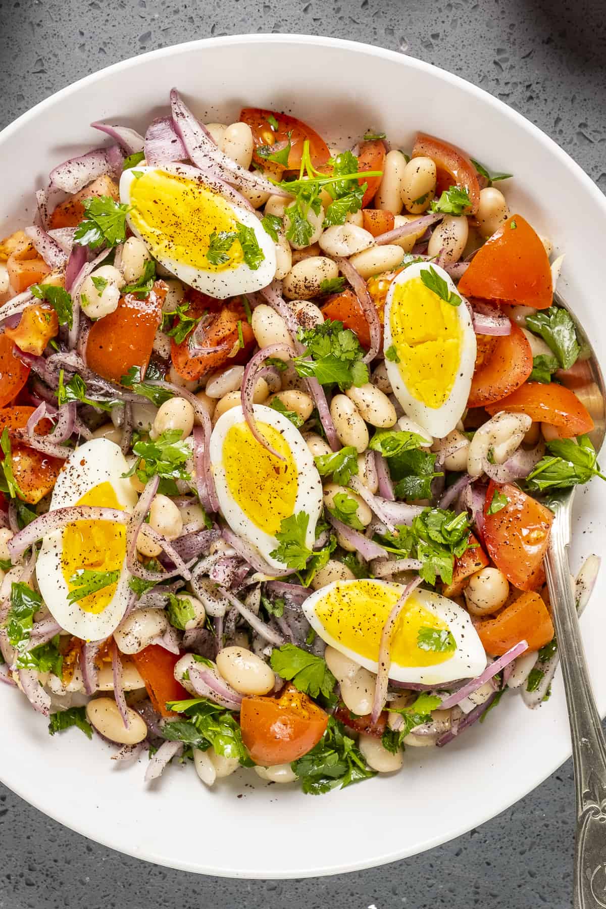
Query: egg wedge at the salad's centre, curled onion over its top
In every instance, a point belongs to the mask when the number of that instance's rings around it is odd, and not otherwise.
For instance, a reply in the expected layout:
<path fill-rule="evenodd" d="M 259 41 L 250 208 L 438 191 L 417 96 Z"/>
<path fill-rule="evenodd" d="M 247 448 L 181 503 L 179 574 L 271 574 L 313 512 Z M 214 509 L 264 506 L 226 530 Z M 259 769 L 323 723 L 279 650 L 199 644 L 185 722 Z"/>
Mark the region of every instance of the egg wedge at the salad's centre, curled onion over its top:
<path fill-rule="evenodd" d="M 242 407 L 219 417 L 211 435 L 210 455 L 221 512 L 273 568 L 284 564 L 271 555 L 283 518 L 309 516 L 305 544 L 312 549 L 315 525 L 322 512 L 322 481 L 303 435 L 273 407 L 254 405 L 257 429 L 283 456 L 271 454 L 254 438 Z"/>

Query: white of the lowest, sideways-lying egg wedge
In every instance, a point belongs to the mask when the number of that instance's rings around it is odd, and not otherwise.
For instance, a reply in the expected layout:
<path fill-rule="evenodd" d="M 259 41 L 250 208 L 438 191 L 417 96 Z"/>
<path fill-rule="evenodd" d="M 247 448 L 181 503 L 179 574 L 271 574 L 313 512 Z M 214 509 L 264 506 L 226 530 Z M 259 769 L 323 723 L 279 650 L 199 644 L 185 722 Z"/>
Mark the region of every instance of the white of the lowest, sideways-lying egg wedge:
<path fill-rule="evenodd" d="M 403 584 L 395 584 L 390 581 L 375 579 L 371 583 L 386 590 L 395 590 L 399 594 L 402 594 L 404 590 Z M 337 586 L 344 587 L 352 584 L 358 584 L 358 581 L 333 581 L 332 584 L 327 584 L 307 597 L 303 602 L 303 613 L 309 624 L 312 625 L 313 630 L 320 635 L 326 644 L 330 644 L 331 647 L 339 650 L 345 656 L 349 656 L 354 663 L 365 666 L 370 672 L 378 673 L 378 663 L 361 654 L 357 654 L 351 648 L 344 646 L 342 642 L 335 640 L 333 635 L 326 631 L 316 614 L 318 604 L 326 597 L 330 597 Z M 453 682 L 455 679 L 474 678 L 476 675 L 481 674 L 486 668 L 486 654 L 482 647 L 482 641 L 472 625 L 472 620 L 462 606 L 441 594 L 436 594 L 429 590 L 417 588 L 412 596 L 428 612 L 436 615 L 448 625 L 457 645 L 456 650 L 448 660 L 433 666 L 402 666 L 392 660 L 389 677 L 395 682 L 440 685 Z"/>

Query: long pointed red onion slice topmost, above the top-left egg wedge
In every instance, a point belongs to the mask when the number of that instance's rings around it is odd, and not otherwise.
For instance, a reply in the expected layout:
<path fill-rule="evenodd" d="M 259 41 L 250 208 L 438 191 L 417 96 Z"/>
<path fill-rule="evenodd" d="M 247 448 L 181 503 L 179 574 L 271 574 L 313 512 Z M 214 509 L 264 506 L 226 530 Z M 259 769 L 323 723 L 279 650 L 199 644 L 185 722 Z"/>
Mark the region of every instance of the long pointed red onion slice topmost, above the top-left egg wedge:
<path fill-rule="evenodd" d="M 208 130 L 199 123 L 190 109 L 184 105 L 175 88 L 171 91 L 171 110 L 174 129 L 181 136 L 187 149 L 187 154 L 194 165 L 201 167 L 203 170 L 209 164 L 216 165 L 223 171 L 224 178 L 236 186 L 256 189 L 272 195 L 289 195 L 273 185 L 273 183 L 270 183 L 264 176 L 244 170 L 241 165 L 236 164 L 232 158 L 225 155 L 215 145 Z"/>

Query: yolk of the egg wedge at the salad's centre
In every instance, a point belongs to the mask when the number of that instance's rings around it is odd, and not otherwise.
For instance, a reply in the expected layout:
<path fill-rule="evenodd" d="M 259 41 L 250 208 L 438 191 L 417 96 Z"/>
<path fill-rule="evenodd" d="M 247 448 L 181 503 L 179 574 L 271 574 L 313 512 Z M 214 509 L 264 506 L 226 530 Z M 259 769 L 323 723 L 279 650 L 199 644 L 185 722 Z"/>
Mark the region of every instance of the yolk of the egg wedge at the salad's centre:
<path fill-rule="evenodd" d="M 267 423 L 257 429 L 279 461 L 254 438 L 245 423 L 230 427 L 223 445 L 225 482 L 243 513 L 265 534 L 275 536 L 282 519 L 294 511 L 297 497 L 297 468 L 283 435 Z"/>

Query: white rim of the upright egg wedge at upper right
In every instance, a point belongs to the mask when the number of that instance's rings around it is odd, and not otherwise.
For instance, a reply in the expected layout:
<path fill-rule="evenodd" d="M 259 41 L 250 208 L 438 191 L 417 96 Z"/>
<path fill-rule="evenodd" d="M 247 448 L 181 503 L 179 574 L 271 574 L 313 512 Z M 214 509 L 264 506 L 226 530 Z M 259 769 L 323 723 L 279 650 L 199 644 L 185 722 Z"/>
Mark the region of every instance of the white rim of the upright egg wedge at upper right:
<path fill-rule="evenodd" d="M 430 265 L 447 283 L 449 290 L 453 294 L 461 296 L 453 284 L 451 276 L 439 265 L 425 262 L 409 265 L 400 273 L 400 275 L 395 276 L 389 287 L 389 291 L 387 292 L 387 298 L 385 300 L 383 351 L 387 351 L 393 344 L 391 313 L 392 300 L 396 287 L 406 284 L 406 282 L 411 281 L 412 278 L 419 277 L 423 271 L 429 269 Z M 459 324 L 462 328 L 461 357 L 451 393 L 440 407 L 428 407 L 411 395 L 402 379 L 399 365 L 385 357 L 385 367 L 392 384 L 393 394 L 402 405 L 406 415 L 422 425 L 423 429 L 427 430 L 428 433 L 431 433 L 431 435 L 440 439 L 443 438 L 444 435 L 448 435 L 452 429 L 454 429 L 467 406 L 467 399 L 469 398 L 470 389 L 472 387 L 472 375 L 477 349 L 472 317 L 463 298 L 461 299 L 461 304 L 455 307 L 455 309 L 459 316 Z"/>

